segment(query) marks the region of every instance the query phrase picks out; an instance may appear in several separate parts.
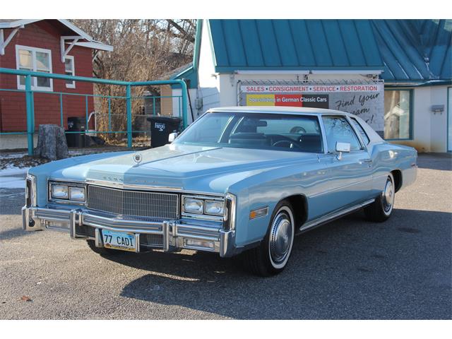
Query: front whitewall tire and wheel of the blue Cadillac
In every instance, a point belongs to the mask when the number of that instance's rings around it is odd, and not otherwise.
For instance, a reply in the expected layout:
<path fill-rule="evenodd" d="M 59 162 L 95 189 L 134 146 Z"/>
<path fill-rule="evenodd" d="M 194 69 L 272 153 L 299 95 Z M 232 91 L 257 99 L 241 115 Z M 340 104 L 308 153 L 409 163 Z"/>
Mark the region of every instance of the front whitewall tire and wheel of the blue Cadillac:
<path fill-rule="evenodd" d="M 258 247 L 244 252 L 244 266 L 261 277 L 281 273 L 292 252 L 294 235 L 295 218 L 292 206 L 289 201 L 280 201 L 270 218 L 266 237 Z"/>

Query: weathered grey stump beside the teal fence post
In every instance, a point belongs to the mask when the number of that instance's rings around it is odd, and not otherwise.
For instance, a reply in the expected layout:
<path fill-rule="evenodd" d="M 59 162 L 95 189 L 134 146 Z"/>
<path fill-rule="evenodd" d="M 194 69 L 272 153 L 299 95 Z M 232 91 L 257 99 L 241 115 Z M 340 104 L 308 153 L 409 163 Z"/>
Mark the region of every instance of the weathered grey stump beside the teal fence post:
<path fill-rule="evenodd" d="M 68 157 L 69 151 L 64 129 L 58 125 L 40 125 L 35 154 L 49 160 Z"/>

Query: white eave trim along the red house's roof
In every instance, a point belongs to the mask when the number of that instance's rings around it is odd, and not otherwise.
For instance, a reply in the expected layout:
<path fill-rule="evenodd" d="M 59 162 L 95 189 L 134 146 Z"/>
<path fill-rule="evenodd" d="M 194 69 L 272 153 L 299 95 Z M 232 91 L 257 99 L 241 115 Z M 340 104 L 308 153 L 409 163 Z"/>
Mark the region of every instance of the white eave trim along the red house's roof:
<path fill-rule="evenodd" d="M 98 42 L 93 39 L 88 33 L 84 32 L 80 28 L 78 28 L 76 25 L 73 25 L 73 23 L 70 23 L 68 20 L 64 19 L 2 19 L 0 20 L 0 30 L 2 29 L 8 29 L 8 28 L 20 28 L 21 26 L 28 25 L 30 23 L 35 23 L 37 21 L 41 20 L 49 20 L 54 21 L 57 23 L 57 25 L 60 25 L 61 28 L 65 28 L 68 30 L 68 33 L 73 34 L 75 33 L 79 37 L 81 37 L 81 41 L 78 40 L 75 44 L 81 47 L 88 47 L 92 49 L 99 49 L 101 51 L 108 51 L 112 52 L 113 46 L 110 46 L 109 44 L 103 44 L 102 42 Z"/>

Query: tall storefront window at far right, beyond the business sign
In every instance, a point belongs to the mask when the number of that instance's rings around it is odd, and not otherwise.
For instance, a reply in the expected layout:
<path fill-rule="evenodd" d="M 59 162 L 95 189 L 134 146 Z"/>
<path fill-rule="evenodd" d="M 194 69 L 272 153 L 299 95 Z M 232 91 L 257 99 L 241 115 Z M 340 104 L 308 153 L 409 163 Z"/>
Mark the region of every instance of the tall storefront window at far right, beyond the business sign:
<path fill-rule="evenodd" d="M 384 91 L 384 138 L 409 139 L 410 90 Z"/>

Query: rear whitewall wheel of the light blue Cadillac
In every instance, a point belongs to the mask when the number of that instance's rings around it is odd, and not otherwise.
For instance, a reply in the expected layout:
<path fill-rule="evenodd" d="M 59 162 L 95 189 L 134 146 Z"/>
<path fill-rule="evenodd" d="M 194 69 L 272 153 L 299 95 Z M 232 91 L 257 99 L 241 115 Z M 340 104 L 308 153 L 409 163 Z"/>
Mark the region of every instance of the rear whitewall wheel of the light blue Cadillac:
<path fill-rule="evenodd" d="M 394 198 L 396 197 L 396 189 L 394 186 L 393 174 L 389 174 L 386 178 L 384 190 L 369 206 L 364 207 L 364 214 L 367 220 L 374 222 L 383 222 L 391 216 L 394 206 Z"/>

